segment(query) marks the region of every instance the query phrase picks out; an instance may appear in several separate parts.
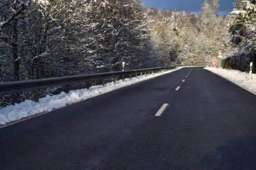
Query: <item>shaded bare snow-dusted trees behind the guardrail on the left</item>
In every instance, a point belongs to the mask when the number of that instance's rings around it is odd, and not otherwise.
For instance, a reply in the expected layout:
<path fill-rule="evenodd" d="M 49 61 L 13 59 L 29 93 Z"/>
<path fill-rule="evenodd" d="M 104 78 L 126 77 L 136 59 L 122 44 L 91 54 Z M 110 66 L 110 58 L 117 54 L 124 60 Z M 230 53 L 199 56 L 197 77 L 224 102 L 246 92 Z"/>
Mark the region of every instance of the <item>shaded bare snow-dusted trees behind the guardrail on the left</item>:
<path fill-rule="evenodd" d="M 127 69 L 159 64 L 139 0 L 3 0 L 0 7 L 1 81 L 117 71 L 123 60 Z"/>

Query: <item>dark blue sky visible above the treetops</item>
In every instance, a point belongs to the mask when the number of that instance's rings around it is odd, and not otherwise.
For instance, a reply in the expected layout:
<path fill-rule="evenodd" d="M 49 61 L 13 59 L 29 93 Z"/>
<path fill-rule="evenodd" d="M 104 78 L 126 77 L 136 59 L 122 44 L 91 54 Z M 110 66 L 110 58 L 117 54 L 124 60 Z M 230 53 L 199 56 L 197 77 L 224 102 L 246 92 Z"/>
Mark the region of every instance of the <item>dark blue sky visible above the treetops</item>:
<path fill-rule="evenodd" d="M 179 11 L 190 11 L 198 13 L 201 9 L 201 4 L 204 0 L 141 0 L 145 6 L 157 7 L 158 9 L 171 9 Z M 236 0 L 219 0 L 220 2 L 220 15 L 227 14 L 228 11 L 234 8 L 233 2 Z"/>

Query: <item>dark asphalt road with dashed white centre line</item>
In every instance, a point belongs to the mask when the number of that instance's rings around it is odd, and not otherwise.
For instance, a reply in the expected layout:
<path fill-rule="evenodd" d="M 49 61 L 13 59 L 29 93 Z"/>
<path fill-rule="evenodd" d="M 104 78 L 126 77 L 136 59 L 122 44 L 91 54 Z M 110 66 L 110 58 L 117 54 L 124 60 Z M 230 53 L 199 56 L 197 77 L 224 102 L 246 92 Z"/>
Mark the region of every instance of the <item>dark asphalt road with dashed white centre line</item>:
<path fill-rule="evenodd" d="M 255 170 L 256 96 L 181 69 L 1 128 L 0 169 Z"/>

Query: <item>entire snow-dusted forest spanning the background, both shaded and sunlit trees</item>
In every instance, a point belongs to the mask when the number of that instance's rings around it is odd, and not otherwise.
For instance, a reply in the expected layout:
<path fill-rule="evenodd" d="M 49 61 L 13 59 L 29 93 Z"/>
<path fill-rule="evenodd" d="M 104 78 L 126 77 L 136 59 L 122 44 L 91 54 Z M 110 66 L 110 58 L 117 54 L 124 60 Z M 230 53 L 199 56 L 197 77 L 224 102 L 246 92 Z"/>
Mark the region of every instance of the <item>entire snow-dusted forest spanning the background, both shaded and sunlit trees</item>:
<path fill-rule="evenodd" d="M 256 1 L 237 0 L 224 16 L 218 8 L 218 0 L 198 14 L 140 0 L 1 0 L 0 82 L 120 71 L 123 61 L 127 70 L 207 65 L 220 50 L 247 71 Z"/>

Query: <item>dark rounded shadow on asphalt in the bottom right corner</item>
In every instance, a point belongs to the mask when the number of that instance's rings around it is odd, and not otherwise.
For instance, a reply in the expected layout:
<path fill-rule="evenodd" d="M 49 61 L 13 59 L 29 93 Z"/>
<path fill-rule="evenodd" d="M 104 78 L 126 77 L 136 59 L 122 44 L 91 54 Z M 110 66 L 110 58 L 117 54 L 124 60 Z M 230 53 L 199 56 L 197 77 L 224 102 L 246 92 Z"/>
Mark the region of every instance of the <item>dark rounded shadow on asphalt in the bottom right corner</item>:
<path fill-rule="evenodd" d="M 201 159 L 205 168 L 214 170 L 255 170 L 256 137 L 238 138 Z"/>

